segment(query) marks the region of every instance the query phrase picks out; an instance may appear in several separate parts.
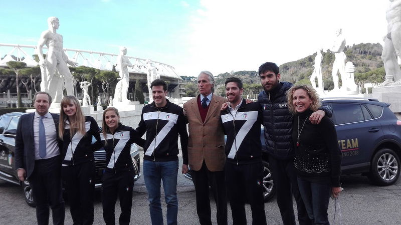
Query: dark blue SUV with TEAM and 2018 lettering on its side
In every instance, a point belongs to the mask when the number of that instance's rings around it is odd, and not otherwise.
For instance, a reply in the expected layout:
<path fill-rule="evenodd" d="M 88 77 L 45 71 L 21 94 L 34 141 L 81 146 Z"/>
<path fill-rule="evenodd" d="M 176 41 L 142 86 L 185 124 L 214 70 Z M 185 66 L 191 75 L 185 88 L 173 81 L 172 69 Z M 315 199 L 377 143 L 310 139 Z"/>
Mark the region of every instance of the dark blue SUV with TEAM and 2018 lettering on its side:
<path fill-rule="evenodd" d="M 401 121 L 389 104 L 364 98 L 325 98 L 333 108 L 332 120 L 342 152 L 342 174 L 361 173 L 376 185 L 391 185 L 399 177 L 401 162 Z M 265 188 L 268 201 L 275 194 L 269 155 L 261 129 Z M 191 179 L 190 172 L 184 174 Z"/>

